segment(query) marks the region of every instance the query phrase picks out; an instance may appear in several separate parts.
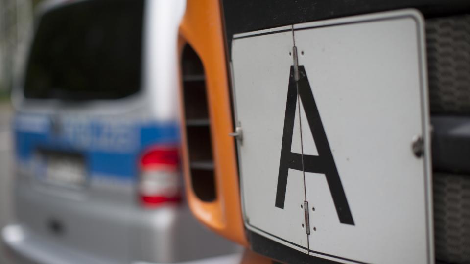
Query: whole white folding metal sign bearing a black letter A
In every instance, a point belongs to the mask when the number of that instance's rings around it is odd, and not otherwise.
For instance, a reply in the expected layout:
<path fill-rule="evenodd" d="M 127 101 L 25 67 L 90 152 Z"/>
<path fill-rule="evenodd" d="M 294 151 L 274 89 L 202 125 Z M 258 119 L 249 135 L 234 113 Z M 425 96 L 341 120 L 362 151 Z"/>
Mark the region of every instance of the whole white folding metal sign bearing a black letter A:
<path fill-rule="evenodd" d="M 423 47 L 413 10 L 234 36 L 248 229 L 338 262 L 432 262 Z"/>

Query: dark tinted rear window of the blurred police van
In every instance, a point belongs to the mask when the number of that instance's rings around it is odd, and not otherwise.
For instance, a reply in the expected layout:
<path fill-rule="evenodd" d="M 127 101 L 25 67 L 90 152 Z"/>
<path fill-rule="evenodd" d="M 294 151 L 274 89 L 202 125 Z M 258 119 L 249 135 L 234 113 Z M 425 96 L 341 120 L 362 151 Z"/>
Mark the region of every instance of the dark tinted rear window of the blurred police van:
<path fill-rule="evenodd" d="M 118 99 L 141 87 L 143 0 L 86 0 L 48 11 L 31 48 L 24 96 Z"/>

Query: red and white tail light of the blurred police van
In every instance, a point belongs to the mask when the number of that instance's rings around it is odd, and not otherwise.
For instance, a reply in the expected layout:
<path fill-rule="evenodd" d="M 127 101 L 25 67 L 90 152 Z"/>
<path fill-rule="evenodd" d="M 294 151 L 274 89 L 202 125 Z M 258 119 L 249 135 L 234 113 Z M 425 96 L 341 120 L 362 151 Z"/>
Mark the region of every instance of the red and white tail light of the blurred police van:
<path fill-rule="evenodd" d="M 138 192 L 144 207 L 181 202 L 179 152 L 176 147 L 153 147 L 140 160 Z"/>

